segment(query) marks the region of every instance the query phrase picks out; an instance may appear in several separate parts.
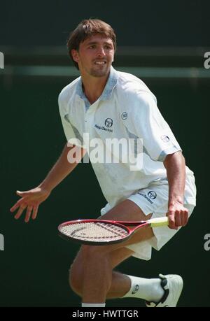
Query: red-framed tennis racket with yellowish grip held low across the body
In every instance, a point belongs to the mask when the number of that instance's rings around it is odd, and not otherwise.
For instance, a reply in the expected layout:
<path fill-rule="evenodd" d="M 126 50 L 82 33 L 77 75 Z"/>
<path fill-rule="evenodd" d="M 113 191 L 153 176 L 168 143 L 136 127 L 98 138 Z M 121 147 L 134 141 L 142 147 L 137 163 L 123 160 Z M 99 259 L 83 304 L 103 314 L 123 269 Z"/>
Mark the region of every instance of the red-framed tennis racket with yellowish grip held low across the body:
<path fill-rule="evenodd" d="M 59 236 L 66 240 L 90 245 L 110 245 L 127 241 L 141 227 L 168 225 L 168 217 L 141 222 L 112 220 L 73 220 L 59 224 Z"/>

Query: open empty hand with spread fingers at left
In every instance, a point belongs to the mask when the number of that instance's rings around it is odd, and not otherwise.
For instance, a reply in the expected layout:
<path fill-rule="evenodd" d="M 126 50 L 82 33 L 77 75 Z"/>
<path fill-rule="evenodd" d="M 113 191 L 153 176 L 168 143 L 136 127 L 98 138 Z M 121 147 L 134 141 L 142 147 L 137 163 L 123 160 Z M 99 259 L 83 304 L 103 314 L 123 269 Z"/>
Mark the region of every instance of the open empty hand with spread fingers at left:
<path fill-rule="evenodd" d="M 22 215 L 22 212 L 26 210 L 25 222 L 29 222 L 30 217 L 35 220 L 38 213 L 38 206 L 50 195 L 50 192 L 48 190 L 44 190 L 42 187 L 36 187 L 26 192 L 17 191 L 16 193 L 21 197 L 21 199 L 19 199 L 15 205 L 10 208 L 10 211 L 14 212 L 18 208 L 18 212 L 15 214 L 15 219 L 18 220 Z"/>

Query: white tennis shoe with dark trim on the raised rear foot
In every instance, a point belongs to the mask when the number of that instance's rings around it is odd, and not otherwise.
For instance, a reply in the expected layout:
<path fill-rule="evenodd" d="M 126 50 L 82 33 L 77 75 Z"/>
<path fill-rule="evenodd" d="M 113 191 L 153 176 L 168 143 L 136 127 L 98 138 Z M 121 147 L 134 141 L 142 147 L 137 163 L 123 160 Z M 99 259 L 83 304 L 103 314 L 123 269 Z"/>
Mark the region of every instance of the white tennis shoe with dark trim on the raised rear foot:
<path fill-rule="evenodd" d="M 159 302 L 145 302 L 148 308 L 171 308 L 176 306 L 183 289 L 183 279 L 176 274 L 168 274 L 163 276 L 159 274 L 161 286 L 165 293 Z"/>

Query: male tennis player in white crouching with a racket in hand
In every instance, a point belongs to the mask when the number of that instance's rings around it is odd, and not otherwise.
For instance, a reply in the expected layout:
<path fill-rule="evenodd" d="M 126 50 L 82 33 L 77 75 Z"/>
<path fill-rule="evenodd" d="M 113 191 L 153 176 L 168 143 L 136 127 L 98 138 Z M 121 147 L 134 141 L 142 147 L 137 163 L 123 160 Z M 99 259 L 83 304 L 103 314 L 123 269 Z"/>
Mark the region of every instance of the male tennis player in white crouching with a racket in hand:
<path fill-rule="evenodd" d="M 130 159 L 96 162 L 90 157 L 108 202 L 102 208 L 102 218 L 141 221 L 167 215 L 169 227 L 139 229 L 124 243 L 82 245 L 71 266 L 69 283 L 82 297 L 82 306 L 105 306 L 106 299 L 124 297 L 144 299 L 148 307 L 176 306 L 183 288 L 181 276 L 159 274 L 147 279 L 113 269 L 131 256 L 151 259 L 152 248 L 160 250 L 187 224 L 195 207 L 193 172 L 186 166 L 181 147 L 160 114 L 154 94 L 139 78 L 113 69 L 116 34 L 109 24 L 83 20 L 71 33 L 68 49 L 80 77 L 59 94 L 59 112 L 67 141 L 74 138 L 76 143 L 65 145 L 38 187 L 17 192 L 21 199 L 11 211 L 18 209 L 18 219 L 26 210 L 26 222 L 30 217 L 36 218 L 39 204 L 76 167 L 87 150 L 90 155 L 84 134 L 89 135 L 91 146 L 97 138 L 101 151 L 107 150 L 108 138 L 133 140 L 132 156 L 142 158 L 136 169 L 132 169 Z M 72 161 L 76 154 L 80 157 Z"/>

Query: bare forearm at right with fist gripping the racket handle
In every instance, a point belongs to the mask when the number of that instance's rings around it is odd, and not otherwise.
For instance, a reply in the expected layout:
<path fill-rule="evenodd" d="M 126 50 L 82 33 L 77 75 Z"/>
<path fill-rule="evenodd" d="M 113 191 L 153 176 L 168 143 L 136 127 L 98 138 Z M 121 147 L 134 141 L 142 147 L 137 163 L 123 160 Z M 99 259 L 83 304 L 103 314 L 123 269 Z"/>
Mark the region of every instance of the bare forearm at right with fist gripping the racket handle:
<path fill-rule="evenodd" d="M 186 162 L 182 152 L 167 155 L 164 162 L 169 181 L 169 227 L 177 229 L 188 222 L 188 209 L 183 206 L 186 185 Z"/>

